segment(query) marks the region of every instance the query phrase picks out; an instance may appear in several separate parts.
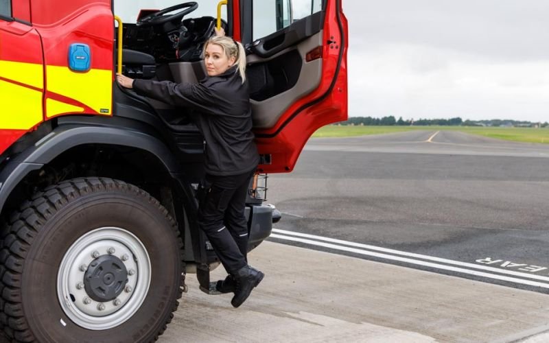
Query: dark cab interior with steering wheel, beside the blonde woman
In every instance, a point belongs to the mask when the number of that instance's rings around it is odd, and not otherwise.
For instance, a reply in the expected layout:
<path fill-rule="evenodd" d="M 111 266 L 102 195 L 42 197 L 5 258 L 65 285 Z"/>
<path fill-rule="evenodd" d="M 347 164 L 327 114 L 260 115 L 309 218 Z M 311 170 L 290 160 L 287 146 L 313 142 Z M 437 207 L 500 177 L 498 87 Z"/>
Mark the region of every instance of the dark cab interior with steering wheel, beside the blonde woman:
<path fill-rule="evenodd" d="M 189 15 L 197 8 L 198 3 L 187 2 L 162 10 L 140 10 L 135 23 L 123 23 L 122 73 L 134 79 L 173 82 L 205 78 L 202 49 L 215 34 L 217 18 Z M 226 28 L 226 22 L 221 23 Z M 188 124 L 180 110 L 154 99 L 147 101 L 172 129 Z"/>

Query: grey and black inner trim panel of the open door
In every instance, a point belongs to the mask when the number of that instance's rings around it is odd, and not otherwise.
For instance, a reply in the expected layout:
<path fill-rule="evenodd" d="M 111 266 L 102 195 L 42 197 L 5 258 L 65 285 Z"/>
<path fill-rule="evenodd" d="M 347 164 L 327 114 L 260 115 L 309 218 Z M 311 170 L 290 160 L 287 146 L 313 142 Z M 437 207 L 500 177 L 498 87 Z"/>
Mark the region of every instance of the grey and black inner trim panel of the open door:
<path fill-rule="evenodd" d="M 305 55 L 323 43 L 323 31 L 270 58 L 249 55 L 246 77 L 254 128 L 272 128 L 297 99 L 320 84 L 322 59 L 305 62 Z"/>

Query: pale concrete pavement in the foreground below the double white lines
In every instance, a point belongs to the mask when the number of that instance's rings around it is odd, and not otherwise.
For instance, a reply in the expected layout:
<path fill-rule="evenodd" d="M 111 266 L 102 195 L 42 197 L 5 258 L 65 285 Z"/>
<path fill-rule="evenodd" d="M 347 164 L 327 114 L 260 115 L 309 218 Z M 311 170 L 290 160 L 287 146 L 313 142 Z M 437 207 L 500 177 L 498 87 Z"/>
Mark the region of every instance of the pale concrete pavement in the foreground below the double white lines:
<path fill-rule="evenodd" d="M 250 263 L 266 277 L 238 309 L 189 274 L 159 342 L 548 342 L 544 294 L 269 241 Z"/>

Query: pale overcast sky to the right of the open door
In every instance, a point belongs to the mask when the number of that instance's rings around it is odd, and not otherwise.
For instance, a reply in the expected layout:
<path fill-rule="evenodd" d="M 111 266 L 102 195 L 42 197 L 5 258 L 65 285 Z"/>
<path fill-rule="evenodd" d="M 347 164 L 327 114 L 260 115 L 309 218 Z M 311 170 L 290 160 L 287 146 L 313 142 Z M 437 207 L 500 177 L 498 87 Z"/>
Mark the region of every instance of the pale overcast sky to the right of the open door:
<path fill-rule="evenodd" d="M 349 116 L 549 121 L 549 0 L 343 0 Z"/>

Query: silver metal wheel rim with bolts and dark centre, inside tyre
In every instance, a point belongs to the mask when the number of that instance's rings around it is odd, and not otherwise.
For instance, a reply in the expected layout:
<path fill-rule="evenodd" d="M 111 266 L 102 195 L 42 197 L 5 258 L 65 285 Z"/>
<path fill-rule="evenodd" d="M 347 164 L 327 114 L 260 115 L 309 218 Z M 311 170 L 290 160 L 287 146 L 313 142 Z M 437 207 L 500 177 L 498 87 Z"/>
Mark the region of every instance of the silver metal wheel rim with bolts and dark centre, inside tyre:
<path fill-rule="evenodd" d="M 59 303 L 80 327 L 110 329 L 139 309 L 150 276 L 149 255 L 139 238 L 124 228 L 97 228 L 65 253 L 57 277 Z"/>

